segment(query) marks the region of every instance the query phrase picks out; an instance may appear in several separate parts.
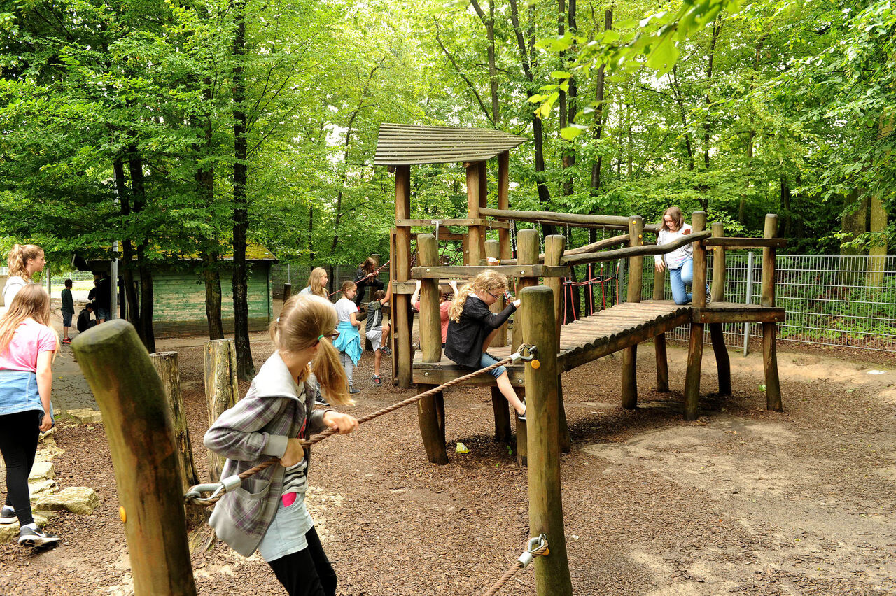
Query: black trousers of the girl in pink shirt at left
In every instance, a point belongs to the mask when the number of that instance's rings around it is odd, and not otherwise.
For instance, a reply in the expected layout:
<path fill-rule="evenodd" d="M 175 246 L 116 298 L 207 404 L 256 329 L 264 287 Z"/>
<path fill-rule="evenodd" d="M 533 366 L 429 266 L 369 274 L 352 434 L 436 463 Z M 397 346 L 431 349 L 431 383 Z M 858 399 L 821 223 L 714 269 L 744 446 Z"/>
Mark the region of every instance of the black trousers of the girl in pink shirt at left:
<path fill-rule="evenodd" d="M 15 509 L 19 525 L 34 523 L 28 475 L 38 452 L 42 415 L 37 410 L 0 415 L 0 452 L 6 465 L 5 504 Z"/>

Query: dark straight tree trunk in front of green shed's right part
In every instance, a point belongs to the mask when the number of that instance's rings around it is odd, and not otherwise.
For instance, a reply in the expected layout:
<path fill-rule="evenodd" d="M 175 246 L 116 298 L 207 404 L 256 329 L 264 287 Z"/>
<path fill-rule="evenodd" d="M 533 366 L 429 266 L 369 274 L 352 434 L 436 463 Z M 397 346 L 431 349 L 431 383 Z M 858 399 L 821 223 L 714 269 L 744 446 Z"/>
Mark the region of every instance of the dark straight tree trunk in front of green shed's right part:
<path fill-rule="evenodd" d="M 233 314 L 234 338 L 237 345 L 237 376 L 252 379 L 255 365 L 249 345 L 248 273 L 246 271 L 246 234 L 249 228 L 249 201 L 246 196 L 246 0 L 234 4 L 237 24 L 233 39 Z"/>

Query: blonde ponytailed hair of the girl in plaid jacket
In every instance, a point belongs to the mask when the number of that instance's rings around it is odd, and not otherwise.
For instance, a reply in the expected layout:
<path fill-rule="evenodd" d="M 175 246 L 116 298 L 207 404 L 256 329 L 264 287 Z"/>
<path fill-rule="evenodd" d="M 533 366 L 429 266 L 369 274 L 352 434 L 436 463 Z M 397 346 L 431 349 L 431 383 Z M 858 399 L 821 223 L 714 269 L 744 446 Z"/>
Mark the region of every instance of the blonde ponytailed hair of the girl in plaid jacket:
<path fill-rule="evenodd" d="M 349 380 L 339 362 L 339 351 L 326 337 L 336 328 L 339 318 L 332 302 L 321 296 L 291 296 L 283 304 L 280 317 L 271 322 L 271 340 L 280 352 L 300 352 L 317 345 L 311 367 L 324 395 L 334 404 L 354 404 L 349 397 Z M 311 374 L 306 369 L 299 379 Z"/>

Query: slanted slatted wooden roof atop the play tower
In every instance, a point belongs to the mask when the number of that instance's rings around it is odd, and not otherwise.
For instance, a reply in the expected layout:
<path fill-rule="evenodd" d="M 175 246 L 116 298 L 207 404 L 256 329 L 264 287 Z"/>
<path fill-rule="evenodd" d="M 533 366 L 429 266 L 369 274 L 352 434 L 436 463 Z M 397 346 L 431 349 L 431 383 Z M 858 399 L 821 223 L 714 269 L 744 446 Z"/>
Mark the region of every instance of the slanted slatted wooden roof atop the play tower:
<path fill-rule="evenodd" d="M 375 166 L 456 164 L 494 158 L 526 137 L 487 128 L 380 124 Z"/>

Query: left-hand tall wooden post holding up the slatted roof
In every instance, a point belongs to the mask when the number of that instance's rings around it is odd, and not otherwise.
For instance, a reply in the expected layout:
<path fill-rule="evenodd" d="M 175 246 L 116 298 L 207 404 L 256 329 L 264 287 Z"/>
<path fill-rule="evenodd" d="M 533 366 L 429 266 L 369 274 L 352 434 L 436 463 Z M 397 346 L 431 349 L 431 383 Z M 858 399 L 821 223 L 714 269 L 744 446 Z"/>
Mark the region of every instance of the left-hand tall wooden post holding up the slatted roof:
<path fill-rule="evenodd" d="M 410 218 L 410 166 L 395 166 L 395 218 Z M 395 253 L 392 255 L 392 267 L 395 269 L 395 281 L 408 281 L 410 277 L 410 227 L 396 226 Z M 398 367 L 398 386 L 407 389 L 413 380 L 414 353 L 411 352 L 408 324 L 410 296 L 394 294 L 392 303 L 395 316 L 392 318 L 395 328 L 394 358 Z"/>

